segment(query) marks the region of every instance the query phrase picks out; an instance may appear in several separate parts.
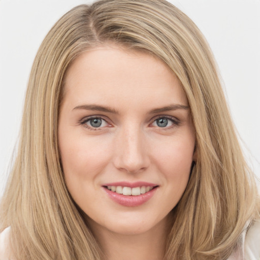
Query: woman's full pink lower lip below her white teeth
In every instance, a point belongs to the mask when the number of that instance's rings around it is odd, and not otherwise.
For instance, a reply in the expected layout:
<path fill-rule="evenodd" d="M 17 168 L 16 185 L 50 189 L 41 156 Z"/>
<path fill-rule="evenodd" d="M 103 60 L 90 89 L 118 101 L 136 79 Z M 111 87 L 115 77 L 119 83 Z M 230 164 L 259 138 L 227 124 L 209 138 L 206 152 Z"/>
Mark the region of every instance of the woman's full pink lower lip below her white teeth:
<path fill-rule="evenodd" d="M 103 187 L 103 188 L 106 191 L 106 193 L 108 194 L 108 196 L 110 197 L 110 199 L 112 199 L 114 202 L 116 202 L 120 205 L 126 206 L 126 207 L 137 207 L 137 206 L 144 204 L 145 202 L 149 201 L 152 198 L 154 192 L 157 189 L 157 187 L 154 187 L 150 191 L 148 191 L 144 194 L 140 194 L 138 196 L 125 196 L 123 194 L 118 194 L 114 191 L 111 191 L 111 190 L 107 189 L 106 187 Z"/>

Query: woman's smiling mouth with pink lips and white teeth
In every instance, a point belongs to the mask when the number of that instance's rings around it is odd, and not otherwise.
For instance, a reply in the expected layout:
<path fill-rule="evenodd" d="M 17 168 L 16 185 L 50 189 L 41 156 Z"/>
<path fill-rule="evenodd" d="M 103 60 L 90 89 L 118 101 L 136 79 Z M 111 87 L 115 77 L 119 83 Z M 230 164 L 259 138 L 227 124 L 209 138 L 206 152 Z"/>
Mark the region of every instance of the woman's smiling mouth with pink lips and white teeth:
<path fill-rule="evenodd" d="M 102 186 L 110 199 L 127 206 L 137 207 L 150 200 L 158 185 L 152 183 L 109 183 Z"/>

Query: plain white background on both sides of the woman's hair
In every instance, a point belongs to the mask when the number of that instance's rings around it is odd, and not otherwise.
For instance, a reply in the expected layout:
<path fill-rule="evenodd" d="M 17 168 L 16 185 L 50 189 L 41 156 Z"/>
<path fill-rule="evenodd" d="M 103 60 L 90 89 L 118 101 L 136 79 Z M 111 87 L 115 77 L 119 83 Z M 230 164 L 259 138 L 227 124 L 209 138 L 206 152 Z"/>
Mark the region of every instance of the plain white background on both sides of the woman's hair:
<path fill-rule="evenodd" d="M 36 52 L 56 20 L 87 0 L 0 0 L 0 197 Z M 249 164 L 260 176 L 260 0 L 170 1 L 207 38 Z"/>

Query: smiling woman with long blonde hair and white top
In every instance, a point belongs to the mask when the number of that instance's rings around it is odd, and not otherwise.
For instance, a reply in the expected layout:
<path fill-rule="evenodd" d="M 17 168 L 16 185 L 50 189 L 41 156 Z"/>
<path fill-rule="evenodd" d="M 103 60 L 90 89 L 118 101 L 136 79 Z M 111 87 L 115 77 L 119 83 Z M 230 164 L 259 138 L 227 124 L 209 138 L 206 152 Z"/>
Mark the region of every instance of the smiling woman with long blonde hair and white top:
<path fill-rule="evenodd" d="M 1 204 L 2 258 L 244 259 L 247 233 L 257 259 L 258 208 L 211 51 L 187 16 L 108 0 L 53 26 Z"/>

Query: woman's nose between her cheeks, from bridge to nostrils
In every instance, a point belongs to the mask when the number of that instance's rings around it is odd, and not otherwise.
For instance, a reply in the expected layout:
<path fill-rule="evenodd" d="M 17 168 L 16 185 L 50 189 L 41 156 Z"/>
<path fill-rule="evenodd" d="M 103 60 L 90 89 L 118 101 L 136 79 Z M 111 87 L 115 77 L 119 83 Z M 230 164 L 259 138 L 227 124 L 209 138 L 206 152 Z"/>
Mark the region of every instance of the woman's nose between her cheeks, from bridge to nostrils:
<path fill-rule="evenodd" d="M 149 167 L 144 133 L 138 127 L 121 129 L 114 150 L 114 166 L 127 173 L 142 172 Z"/>

